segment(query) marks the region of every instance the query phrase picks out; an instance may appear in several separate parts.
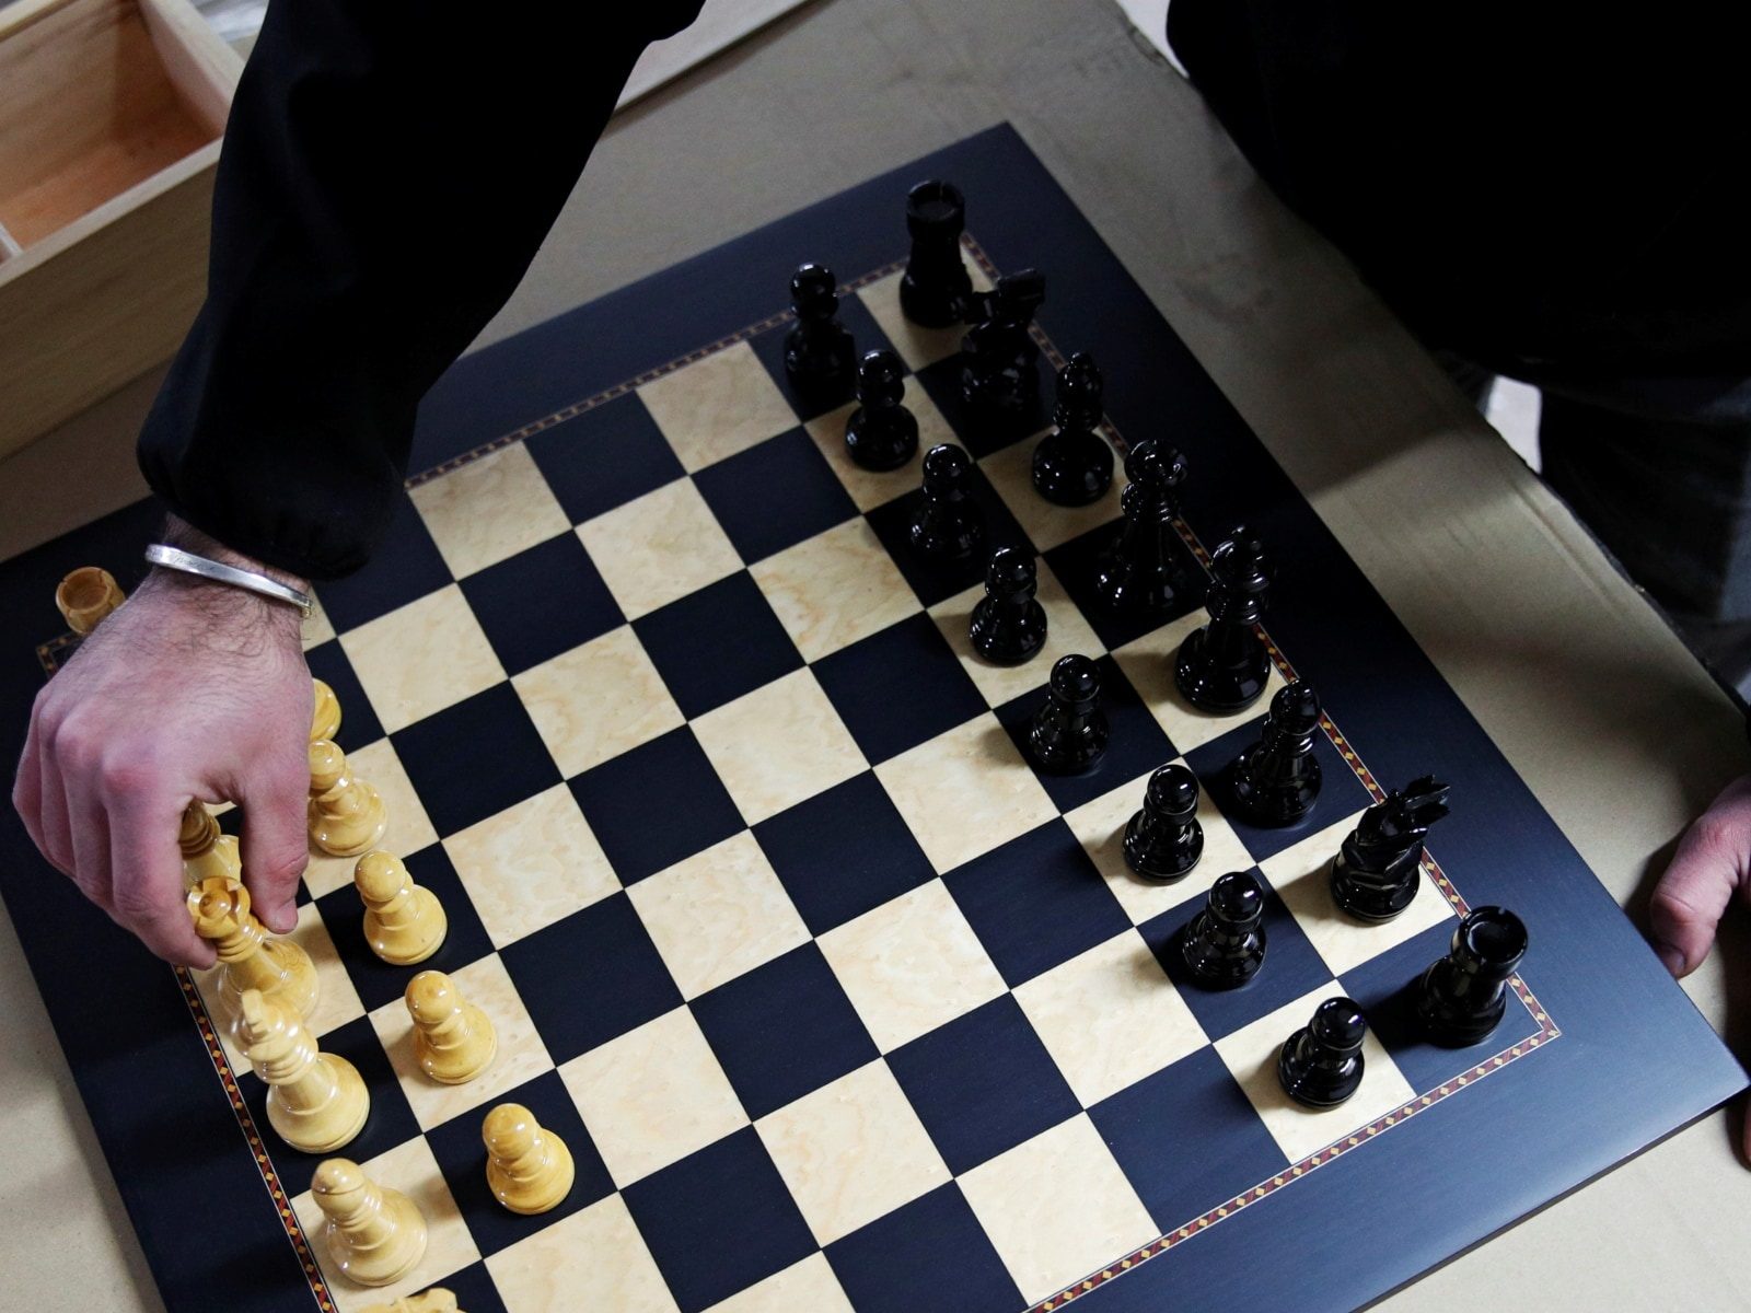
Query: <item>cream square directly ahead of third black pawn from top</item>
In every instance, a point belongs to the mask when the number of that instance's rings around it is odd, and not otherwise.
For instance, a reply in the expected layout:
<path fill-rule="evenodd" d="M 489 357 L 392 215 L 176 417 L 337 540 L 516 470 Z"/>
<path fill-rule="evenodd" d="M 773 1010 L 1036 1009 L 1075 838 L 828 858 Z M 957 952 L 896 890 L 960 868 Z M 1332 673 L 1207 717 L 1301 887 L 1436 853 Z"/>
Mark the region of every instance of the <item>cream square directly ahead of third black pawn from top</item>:
<path fill-rule="evenodd" d="M 861 516 L 767 557 L 748 572 L 809 662 L 921 609 L 912 585 Z"/>

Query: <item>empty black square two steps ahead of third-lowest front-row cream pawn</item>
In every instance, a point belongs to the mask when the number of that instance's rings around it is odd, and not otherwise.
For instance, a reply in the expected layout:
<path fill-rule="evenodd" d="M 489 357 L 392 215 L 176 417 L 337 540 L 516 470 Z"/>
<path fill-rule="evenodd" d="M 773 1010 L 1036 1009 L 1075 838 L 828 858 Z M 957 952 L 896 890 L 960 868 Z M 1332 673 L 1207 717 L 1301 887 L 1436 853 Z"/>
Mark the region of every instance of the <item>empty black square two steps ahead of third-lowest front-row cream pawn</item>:
<path fill-rule="evenodd" d="M 742 814 L 686 725 L 585 770 L 571 791 L 622 884 L 742 828 Z"/>

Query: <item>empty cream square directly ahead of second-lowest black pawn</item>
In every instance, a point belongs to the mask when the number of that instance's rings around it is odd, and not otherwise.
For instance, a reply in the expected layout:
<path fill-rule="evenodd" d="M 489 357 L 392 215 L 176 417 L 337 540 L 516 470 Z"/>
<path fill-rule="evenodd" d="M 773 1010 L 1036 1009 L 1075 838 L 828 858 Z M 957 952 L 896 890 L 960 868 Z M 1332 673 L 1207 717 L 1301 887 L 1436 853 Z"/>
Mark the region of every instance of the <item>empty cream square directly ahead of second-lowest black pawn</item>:
<path fill-rule="evenodd" d="M 1084 1108 L 1206 1043 L 1135 930 L 1017 986 L 1016 1001 Z"/>

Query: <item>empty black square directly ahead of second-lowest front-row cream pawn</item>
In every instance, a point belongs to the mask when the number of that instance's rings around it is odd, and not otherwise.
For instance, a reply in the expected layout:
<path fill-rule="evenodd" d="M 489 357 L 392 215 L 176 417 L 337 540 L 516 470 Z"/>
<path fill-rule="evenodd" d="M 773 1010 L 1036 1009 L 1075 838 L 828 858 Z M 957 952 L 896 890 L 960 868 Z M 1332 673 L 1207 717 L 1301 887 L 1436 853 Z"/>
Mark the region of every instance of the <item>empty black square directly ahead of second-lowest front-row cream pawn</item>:
<path fill-rule="evenodd" d="M 499 958 L 555 1063 L 681 1005 L 681 991 L 623 893 L 525 935 Z"/>

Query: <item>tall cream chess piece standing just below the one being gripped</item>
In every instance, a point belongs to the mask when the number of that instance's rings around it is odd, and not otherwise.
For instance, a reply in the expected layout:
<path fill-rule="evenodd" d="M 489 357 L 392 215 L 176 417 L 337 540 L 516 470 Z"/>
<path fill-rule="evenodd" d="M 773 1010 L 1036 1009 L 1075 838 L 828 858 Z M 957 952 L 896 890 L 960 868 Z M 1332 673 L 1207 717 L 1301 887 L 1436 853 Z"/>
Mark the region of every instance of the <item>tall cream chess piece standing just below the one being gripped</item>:
<path fill-rule="evenodd" d="M 259 989 L 245 989 L 238 1043 L 268 1084 L 268 1124 L 305 1154 L 350 1143 L 371 1112 L 359 1068 L 317 1049 L 305 1019 Z"/>

